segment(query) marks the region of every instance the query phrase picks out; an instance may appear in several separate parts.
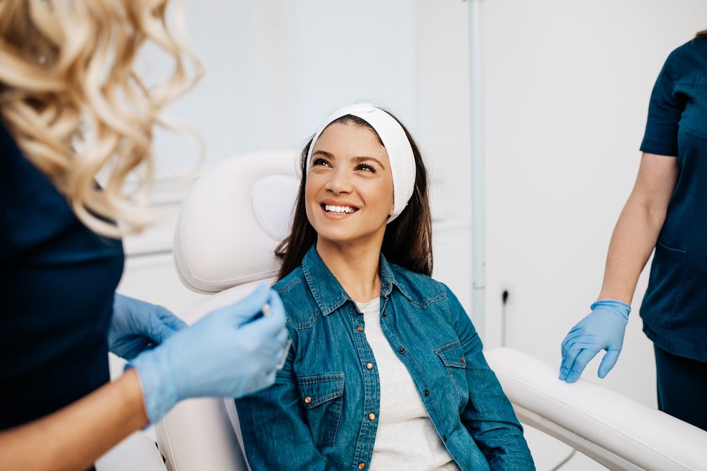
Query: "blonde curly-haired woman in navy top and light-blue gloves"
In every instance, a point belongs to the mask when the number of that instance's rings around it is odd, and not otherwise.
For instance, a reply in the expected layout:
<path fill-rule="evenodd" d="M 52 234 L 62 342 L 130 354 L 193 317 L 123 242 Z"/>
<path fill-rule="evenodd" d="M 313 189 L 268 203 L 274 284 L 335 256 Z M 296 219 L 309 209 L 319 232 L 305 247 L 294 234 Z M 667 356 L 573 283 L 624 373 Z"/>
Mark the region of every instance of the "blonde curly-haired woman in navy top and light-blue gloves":
<path fill-rule="evenodd" d="M 115 295 L 118 223 L 144 226 L 155 125 L 192 82 L 167 1 L 0 0 L 0 467 L 86 470 L 178 400 L 274 382 L 287 332 L 267 287 L 186 327 Z M 163 86 L 134 71 L 153 42 Z M 96 175 L 105 172 L 103 187 Z M 269 303 L 271 315 L 260 317 Z M 109 383 L 107 353 L 134 368 Z"/>

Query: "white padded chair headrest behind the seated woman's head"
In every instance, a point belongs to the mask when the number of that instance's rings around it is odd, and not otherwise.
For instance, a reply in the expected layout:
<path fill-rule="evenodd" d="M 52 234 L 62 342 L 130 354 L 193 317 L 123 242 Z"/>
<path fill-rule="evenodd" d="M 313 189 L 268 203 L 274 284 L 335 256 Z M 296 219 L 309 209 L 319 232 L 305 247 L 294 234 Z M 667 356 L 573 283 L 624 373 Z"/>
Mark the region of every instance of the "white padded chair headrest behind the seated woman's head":
<path fill-rule="evenodd" d="M 177 221 L 174 256 L 187 288 L 217 293 L 273 277 L 291 228 L 298 153 L 224 158 L 199 178 Z"/>

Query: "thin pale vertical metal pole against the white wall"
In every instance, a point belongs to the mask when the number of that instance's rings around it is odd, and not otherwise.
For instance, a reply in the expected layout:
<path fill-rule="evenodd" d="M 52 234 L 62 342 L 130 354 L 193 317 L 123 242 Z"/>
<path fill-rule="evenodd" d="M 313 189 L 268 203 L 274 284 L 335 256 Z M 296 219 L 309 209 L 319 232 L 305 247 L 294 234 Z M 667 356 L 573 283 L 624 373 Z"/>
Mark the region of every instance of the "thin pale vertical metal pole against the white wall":
<path fill-rule="evenodd" d="M 469 98 L 472 140 L 472 319 L 484 339 L 486 327 L 486 188 L 484 95 L 481 69 L 481 1 L 469 1 Z"/>

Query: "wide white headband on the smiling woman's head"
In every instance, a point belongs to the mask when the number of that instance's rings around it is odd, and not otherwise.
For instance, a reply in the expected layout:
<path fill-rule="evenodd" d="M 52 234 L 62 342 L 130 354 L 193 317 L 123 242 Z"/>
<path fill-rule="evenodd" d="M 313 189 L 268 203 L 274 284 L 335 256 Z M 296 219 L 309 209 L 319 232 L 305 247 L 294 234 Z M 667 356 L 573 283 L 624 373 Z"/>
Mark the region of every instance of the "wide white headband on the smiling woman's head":
<path fill-rule="evenodd" d="M 347 105 L 334 111 L 320 127 L 307 153 L 307 168 L 312 164 L 312 150 L 320 134 L 342 116 L 354 115 L 370 124 L 378 133 L 390 160 L 390 171 L 393 176 L 393 214 L 388 218 L 388 223 L 402 213 L 410 201 L 415 189 L 415 157 L 412 146 L 407 139 L 405 131 L 399 122 L 387 112 L 370 105 L 370 103 L 356 103 Z"/>

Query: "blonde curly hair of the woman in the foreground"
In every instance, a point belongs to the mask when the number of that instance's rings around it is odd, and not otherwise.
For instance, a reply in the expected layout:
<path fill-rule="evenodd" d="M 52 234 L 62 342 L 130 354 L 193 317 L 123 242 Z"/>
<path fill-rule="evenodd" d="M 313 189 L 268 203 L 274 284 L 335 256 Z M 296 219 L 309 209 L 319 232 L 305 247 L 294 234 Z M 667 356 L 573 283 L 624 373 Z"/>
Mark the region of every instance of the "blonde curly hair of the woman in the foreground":
<path fill-rule="evenodd" d="M 0 0 L 0 115 L 78 219 L 104 236 L 120 236 L 114 221 L 134 230 L 148 222 L 153 129 L 175 130 L 163 109 L 202 74 L 168 30 L 167 4 Z M 151 88 L 134 70 L 146 42 L 174 66 Z M 103 188 L 98 173 L 107 174 Z M 129 175 L 137 178 L 132 192 L 124 189 Z"/>

